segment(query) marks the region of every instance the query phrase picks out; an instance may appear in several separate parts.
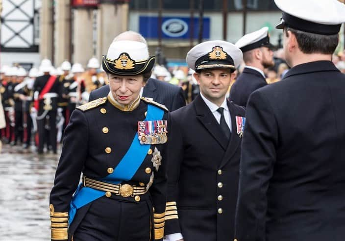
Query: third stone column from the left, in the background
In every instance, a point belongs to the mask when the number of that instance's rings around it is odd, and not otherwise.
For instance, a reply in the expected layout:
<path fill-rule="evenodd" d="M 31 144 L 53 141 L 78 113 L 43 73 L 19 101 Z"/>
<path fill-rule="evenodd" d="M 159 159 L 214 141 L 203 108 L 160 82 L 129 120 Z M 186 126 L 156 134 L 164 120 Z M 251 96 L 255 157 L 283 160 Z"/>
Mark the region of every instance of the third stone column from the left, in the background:
<path fill-rule="evenodd" d="M 74 10 L 73 62 L 82 64 L 84 68 L 93 56 L 92 11 L 92 8 L 76 8 Z"/>

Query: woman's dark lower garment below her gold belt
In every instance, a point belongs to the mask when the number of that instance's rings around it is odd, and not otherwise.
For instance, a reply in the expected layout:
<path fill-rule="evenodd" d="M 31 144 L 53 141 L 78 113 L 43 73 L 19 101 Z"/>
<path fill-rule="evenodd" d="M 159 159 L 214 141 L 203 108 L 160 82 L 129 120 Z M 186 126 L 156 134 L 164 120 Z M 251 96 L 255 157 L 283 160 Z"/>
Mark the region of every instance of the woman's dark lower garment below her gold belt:
<path fill-rule="evenodd" d="M 85 216 L 74 232 L 73 241 L 153 240 L 150 210 L 150 200 L 133 203 L 100 197 L 83 214 Z M 74 220 L 80 219 L 79 214 L 78 210 Z"/>

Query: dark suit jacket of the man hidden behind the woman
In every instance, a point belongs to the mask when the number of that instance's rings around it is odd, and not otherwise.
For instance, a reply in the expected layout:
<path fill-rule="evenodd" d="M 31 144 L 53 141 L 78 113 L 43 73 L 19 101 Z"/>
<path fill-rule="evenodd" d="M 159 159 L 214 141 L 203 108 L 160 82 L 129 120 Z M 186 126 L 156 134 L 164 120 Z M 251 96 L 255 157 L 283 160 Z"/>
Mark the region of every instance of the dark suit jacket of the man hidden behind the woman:
<path fill-rule="evenodd" d="M 102 86 L 91 92 L 89 101 L 107 96 L 109 91 L 109 85 Z M 152 98 L 153 101 L 165 105 L 169 111 L 177 110 L 186 105 L 183 90 L 180 87 L 157 79 L 148 79 L 144 87 L 143 96 Z"/>

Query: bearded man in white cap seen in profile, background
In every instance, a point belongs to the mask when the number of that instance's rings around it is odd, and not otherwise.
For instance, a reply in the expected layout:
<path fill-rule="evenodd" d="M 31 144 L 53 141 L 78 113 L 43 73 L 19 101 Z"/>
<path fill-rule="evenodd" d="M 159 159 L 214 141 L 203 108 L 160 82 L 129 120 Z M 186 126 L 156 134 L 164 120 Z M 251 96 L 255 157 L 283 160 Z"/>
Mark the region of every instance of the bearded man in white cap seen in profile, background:
<path fill-rule="evenodd" d="M 274 66 L 269 28 L 263 27 L 246 34 L 237 41 L 236 46 L 242 50 L 246 66 L 232 85 L 229 99 L 246 106 L 249 95 L 267 85 L 264 69 Z"/>

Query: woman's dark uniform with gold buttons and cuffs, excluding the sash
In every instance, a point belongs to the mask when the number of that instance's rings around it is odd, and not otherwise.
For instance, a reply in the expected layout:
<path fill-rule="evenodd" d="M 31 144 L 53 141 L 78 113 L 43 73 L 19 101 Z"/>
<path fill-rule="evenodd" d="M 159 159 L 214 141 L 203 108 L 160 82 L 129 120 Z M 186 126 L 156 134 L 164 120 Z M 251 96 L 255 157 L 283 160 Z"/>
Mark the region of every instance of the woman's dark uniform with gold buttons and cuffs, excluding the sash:
<path fill-rule="evenodd" d="M 70 211 L 80 173 L 97 182 L 116 169 L 133 139 L 138 138 L 138 121 L 145 119 L 148 104 L 163 109 L 159 104 L 142 98 L 136 109 L 122 111 L 107 97 L 103 97 L 74 110 L 65 130 L 54 187 L 50 193 L 52 233 L 58 233 L 54 228 L 59 220 L 55 217 L 67 217 Z M 166 109 L 163 112 L 161 120 L 167 120 Z M 152 240 L 162 240 L 167 188 L 167 144 L 150 145 L 149 148 L 139 169 L 133 169 L 133 177 L 130 180 L 119 180 L 122 185 L 147 188 L 148 193 L 138 196 L 139 199 L 134 195 L 124 197 L 122 194 L 105 193 L 86 204 L 77 210 L 73 222 L 69 224 L 69 240 L 73 235 L 77 240 L 88 241 L 149 241 L 150 237 Z M 160 151 L 162 157 L 158 171 L 152 161 L 155 149 Z M 131 169 L 130 165 L 128 169 Z M 61 222 L 67 225 L 67 218 L 61 219 Z M 93 227 L 98 230 L 97 233 Z"/>

